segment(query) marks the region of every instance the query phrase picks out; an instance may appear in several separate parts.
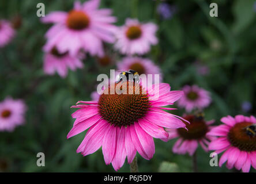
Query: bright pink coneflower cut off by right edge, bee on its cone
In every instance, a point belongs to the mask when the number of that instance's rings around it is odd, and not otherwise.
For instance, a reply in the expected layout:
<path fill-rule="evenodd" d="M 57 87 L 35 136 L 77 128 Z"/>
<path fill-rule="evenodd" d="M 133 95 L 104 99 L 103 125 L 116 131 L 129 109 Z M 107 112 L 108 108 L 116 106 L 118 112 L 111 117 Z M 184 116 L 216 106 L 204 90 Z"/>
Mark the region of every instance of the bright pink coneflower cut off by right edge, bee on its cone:
<path fill-rule="evenodd" d="M 253 166 L 256 169 L 256 135 L 254 116 L 237 115 L 223 117 L 220 120 L 224 125 L 213 128 L 208 135 L 218 136 L 209 144 L 209 150 L 216 150 L 217 154 L 225 151 L 219 161 L 221 167 L 227 161 L 227 168 L 242 168 L 244 173 Z"/>

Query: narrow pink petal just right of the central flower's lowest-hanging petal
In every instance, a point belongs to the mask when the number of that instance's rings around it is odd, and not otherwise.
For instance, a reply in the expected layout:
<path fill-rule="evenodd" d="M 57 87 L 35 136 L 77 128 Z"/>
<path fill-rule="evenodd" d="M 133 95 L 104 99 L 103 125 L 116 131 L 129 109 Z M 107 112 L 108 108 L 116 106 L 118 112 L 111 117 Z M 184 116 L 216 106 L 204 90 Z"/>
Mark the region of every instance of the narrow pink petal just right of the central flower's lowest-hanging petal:
<path fill-rule="evenodd" d="M 125 151 L 127 155 L 127 162 L 133 162 L 134 156 L 136 155 L 136 150 L 131 139 L 130 126 L 126 127 L 125 129 Z"/>

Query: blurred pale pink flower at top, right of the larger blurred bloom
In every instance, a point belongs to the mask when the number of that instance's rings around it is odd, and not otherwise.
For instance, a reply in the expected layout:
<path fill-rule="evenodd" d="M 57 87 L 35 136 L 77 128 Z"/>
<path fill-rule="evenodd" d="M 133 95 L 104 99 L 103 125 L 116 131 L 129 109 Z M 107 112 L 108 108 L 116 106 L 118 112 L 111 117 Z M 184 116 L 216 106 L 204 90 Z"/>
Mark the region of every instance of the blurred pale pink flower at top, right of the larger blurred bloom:
<path fill-rule="evenodd" d="M 150 45 L 158 43 L 157 25 L 150 22 L 141 24 L 138 20 L 126 19 L 126 23 L 116 31 L 115 48 L 127 55 L 144 54 L 150 51 Z"/>

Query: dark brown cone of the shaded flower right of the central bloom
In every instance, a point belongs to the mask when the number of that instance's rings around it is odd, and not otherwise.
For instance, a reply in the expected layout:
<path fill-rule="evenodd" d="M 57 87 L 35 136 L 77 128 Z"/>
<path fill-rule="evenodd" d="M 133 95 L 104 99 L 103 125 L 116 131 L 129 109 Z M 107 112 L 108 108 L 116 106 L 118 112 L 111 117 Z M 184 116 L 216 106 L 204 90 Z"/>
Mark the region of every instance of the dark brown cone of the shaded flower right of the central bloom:
<path fill-rule="evenodd" d="M 187 115 L 185 117 L 185 120 L 189 121 L 190 124 L 183 121 L 186 124 L 186 128 L 179 128 L 177 131 L 183 139 L 202 139 L 205 137 L 206 133 L 208 132 L 208 127 L 202 118 L 197 118 L 194 115 Z"/>

